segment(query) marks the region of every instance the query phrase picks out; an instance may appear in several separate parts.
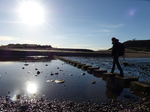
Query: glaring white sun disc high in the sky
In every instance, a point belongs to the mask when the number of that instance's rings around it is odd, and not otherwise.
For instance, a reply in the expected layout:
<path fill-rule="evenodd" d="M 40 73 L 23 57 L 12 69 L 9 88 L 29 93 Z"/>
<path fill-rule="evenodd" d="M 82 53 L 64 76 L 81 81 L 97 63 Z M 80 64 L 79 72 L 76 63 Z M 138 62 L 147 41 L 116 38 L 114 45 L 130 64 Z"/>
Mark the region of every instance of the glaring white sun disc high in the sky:
<path fill-rule="evenodd" d="M 37 1 L 24 1 L 20 3 L 19 14 L 22 22 L 37 25 L 44 22 L 45 11 L 42 4 Z"/>

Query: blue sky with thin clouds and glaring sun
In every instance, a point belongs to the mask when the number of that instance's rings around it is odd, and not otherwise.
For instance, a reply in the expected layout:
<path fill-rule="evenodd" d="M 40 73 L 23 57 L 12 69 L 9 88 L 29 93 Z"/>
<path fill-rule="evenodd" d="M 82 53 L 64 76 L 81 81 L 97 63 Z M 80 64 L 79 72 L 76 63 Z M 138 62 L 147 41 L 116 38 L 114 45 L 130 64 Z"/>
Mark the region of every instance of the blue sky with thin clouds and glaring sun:
<path fill-rule="evenodd" d="M 102 50 L 150 39 L 150 0 L 0 0 L 0 45 Z"/>

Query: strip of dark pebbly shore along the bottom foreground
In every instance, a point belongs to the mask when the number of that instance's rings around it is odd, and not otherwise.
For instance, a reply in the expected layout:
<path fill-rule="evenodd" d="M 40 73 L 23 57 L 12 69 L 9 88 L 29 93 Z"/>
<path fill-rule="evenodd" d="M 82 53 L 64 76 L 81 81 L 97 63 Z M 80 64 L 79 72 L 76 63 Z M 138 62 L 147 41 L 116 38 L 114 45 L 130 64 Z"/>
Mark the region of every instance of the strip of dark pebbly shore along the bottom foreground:
<path fill-rule="evenodd" d="M 25 99 L 19 96 L 16 102 L 0 97 L 2 112 L 149 112 L 150 99 L 138 101 L 112 100 L 108 103 L 74 102 L 69 100 Z"/>

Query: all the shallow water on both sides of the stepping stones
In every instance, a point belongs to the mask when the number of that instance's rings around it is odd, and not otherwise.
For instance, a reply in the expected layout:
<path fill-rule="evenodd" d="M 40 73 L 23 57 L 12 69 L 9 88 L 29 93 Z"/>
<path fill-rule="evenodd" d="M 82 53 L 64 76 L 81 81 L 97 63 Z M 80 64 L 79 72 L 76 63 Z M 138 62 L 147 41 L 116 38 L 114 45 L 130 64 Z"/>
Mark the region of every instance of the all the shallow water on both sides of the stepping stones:
<path fill-rule="evenodd" d="M 92 66 L 99 66 L 108 72 L 111 69 L 111 58 L 95 57 L 64 57 L 70 60 L 80 61 Z M 146 71 L 138 69 L 143 65 L 143 59 L 126 59 L 123 62 L 132 62 L 136 66 L 124 67 L 124 72 L 129 75 L 138 75 Z M 148 59 L 145 63 L 150 62 Z M 142 65 L 141 65 L 142 64 Z M 147 65 L 146 65 L 147 66 Z M 117 68 L 116 68 L 116 71 Z M 82 75 L 85 73 L 85 75 Z M 139 76 L 139 75 L 138 75 Z M 143 76 L 144 77 L 144 76 Z M 142 76 L 140 80 L 144 80 Z M 58 84 L 50 80 L 63 79 L 64 83 Z M 149 76 L 146 78 L 149 80 Z M 95 84 L 92 84 L 95 82 Z M 116 92 L 110 91 L 109 87 L 114 84 L 112 79 L 107 82 L 89 74 L 82 69 L 76 68 L 58 59 L 46 62 L 0 62 L 0 96 L 9 93 L 11 100 L 16 100 L 16 95 L 23 98 L 44 97 L 50 100 L 73 100 L 77 102 L 92 101 L 97 103 L 109 102 L 112 98 L 135 99 L 137 96 L 130 93 L 129 88 L 120 88 Z M 115 85 L 116 86 L 116 85 Z"/>

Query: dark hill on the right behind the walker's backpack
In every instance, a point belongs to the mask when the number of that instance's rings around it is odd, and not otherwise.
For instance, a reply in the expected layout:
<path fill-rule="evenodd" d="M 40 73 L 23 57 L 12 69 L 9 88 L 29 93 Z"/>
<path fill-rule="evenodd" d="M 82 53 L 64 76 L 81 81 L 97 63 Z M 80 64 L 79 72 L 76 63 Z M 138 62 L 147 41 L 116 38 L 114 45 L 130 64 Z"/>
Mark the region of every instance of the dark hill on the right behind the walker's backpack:
<path fill-rule="evenodd" d="M 149 51 L 150 52 L 150 40 L 129 40 L 123 43 L 125 48 L 135 51 Z"/>

